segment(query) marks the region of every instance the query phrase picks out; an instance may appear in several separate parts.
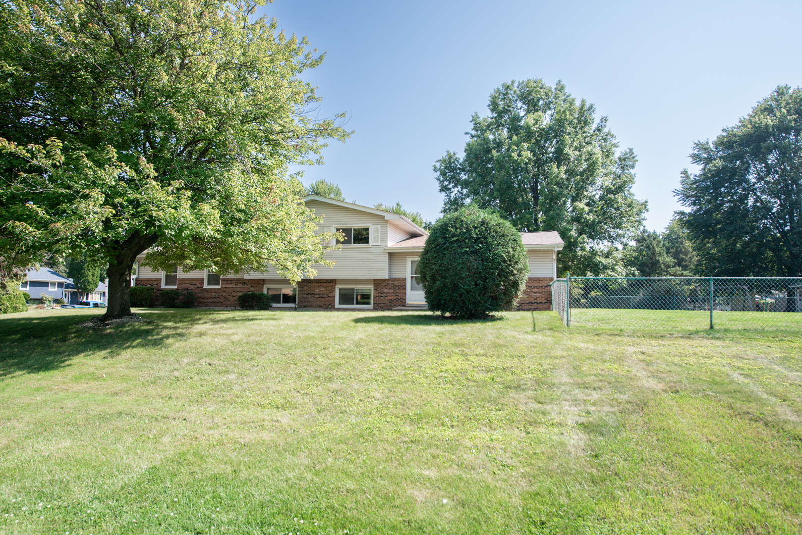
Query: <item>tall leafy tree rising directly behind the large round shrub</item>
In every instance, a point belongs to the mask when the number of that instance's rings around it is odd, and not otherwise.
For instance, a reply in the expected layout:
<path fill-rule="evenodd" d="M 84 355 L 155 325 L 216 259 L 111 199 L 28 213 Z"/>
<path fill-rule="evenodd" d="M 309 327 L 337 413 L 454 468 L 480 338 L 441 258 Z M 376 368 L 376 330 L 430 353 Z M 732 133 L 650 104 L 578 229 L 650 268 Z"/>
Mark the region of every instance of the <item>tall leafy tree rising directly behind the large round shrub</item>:
<path fill-rule="evenodd" d="M 593 104 L 577 103 L 561 82 L 504 83 L 488 109 L 472 116 L 464 157 L 446 152 L 435 164 L 444 213 L 475 203 L 521 232 L 556 230 L 561 273 L 610 270 L 610 246 L 634 237 L 646 211 L 631 189 L 632 149 L 617 154 L 606 117 L 596 121 Z"/>

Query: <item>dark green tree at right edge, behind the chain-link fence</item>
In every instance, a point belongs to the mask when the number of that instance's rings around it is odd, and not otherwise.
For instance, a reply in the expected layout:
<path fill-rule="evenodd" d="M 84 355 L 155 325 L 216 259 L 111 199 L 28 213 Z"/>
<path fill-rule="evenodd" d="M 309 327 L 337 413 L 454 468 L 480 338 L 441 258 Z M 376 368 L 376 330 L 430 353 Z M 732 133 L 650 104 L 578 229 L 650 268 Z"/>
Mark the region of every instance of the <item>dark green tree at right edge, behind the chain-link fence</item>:
<path fill-rule="evenodd" d="M 674 192 L 706 275 L 802 275 L 802 89 L 777 87 L 710 143 Z"/>

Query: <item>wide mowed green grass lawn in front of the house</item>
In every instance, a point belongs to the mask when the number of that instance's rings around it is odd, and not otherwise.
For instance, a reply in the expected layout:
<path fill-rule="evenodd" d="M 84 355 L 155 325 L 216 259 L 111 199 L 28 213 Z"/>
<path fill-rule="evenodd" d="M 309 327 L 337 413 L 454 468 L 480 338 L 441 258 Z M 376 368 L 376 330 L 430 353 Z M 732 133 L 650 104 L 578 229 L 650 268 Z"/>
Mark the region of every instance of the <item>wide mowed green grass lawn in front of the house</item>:
<path fill-rule="evenodd" d="M 93 314 L 0 317 L 0 533 L 802 531 L 796 331 Z"/>

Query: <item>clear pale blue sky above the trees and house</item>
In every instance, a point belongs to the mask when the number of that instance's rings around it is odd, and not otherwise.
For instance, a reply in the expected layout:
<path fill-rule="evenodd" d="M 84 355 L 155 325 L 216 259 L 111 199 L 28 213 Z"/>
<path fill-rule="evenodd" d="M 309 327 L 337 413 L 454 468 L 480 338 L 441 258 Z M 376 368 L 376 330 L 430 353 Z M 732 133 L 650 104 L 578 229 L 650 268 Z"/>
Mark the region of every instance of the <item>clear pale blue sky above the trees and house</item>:
<path fill-rule="evenodd" d="M 462 152 L 474 111 L 512 79 L 565 82 L 622 148 L 638 155 L 634 192 L 646 227 L 679 206 L 679 172 L 695 140 L 737 123 L 779 84 L 802 85 L 802 2 L 319 2 L 261 11 L 326 51 L 304 78 L 320 116 L 346 111 L 355 133 L 306 168 L 348 201 L 439 217 L 431 167 Z"/>

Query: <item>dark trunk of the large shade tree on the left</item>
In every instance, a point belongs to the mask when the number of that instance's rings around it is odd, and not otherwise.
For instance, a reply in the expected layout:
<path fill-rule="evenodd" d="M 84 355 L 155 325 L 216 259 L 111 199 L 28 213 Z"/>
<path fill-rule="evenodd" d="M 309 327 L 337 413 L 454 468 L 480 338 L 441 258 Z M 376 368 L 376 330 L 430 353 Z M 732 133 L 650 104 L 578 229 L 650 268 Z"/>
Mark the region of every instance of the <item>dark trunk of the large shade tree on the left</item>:
<path fill-rule="evenodd" d="M 122 318 L 131 314 L 131 272 L 136 257 L 156 243 L 156 234 L 134 233 L 126 241 L 110 244 L 116 254 L 109 259 L 106 288 L 106 314 L 103 319 Z"/>

